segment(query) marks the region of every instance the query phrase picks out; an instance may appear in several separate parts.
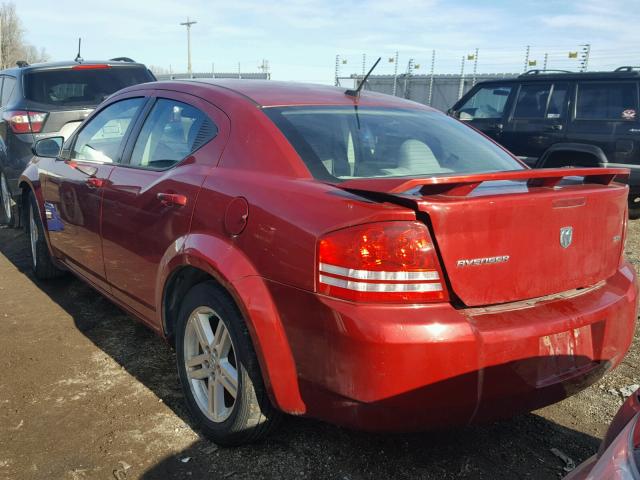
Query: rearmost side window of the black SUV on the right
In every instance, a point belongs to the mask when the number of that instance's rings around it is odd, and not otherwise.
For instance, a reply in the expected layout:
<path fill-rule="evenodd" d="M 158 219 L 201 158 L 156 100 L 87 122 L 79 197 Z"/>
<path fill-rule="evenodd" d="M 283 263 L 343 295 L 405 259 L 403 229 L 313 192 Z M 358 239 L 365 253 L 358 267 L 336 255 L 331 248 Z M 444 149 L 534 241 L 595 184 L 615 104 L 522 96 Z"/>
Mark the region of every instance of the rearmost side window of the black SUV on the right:
<path fill-rule="evenodd" d="M 636 120 L 638 87 L 635 82 L 578 84 L 576 118 L 582 120 Z"/>

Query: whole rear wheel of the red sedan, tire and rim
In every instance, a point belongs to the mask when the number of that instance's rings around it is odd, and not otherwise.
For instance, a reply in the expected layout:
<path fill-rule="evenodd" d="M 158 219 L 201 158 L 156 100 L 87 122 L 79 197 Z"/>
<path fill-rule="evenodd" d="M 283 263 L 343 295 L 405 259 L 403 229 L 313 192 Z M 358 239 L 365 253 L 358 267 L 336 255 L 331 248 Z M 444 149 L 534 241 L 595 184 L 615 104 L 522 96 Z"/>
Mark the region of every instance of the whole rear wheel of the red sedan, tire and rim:
<path fill-rule="evenodd" d="M 203 433 L 225 446 L 266 436 L 281 414 L 266 395 L 246 324 L 226 292 L 213 282 L 193 287 L 176 333 L 182 390 Z"/>

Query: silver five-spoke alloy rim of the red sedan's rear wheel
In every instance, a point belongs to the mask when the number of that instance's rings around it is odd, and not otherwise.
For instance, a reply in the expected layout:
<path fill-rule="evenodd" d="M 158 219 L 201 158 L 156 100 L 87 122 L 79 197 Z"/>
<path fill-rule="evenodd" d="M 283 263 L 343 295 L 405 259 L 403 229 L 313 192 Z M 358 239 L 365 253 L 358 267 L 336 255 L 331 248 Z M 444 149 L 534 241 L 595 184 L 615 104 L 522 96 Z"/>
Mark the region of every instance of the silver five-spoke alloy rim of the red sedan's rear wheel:
<path fill-rule="evenodd" d="M 184 365 L 198 408 L 211 421 L 224 422 L 238 397 L 238 364 L 229 330 L 210 307 L 196 308 L 184 335 Z"/>

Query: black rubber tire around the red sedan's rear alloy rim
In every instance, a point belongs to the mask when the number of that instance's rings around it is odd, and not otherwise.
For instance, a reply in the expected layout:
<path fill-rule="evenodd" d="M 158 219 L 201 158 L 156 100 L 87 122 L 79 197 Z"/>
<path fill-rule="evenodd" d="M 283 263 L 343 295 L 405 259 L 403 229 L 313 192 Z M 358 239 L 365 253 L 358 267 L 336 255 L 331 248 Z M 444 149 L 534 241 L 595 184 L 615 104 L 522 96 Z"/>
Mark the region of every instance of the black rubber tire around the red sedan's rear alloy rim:
<path fill-rule="evenodd" d="M 185 351 L 189 348 L 185 343 L 187 324 L 191 315 L 202 309 L 215 312 L 215 316 L 210 317 L 209 322 L 213 320 L 217 324 L 218 321 L 222 321 L 226 327 L 231 338 L 231 351 L 234 352 L 234 367 L 237 370 L 237 396 L 231 407 L 231 413 L 225 420 L 218 422 L 210 419 L 198 405 L 192 391 L 195 387 L 190 383 L 193 380 L 188 376 L 185 360 Z M 217 320 L 218 318 L 220 320 Z M 221 446 L 252 443 L 264 438 L 277 425 L 282 414 L 273 407 L 267 395 L 247 326 L 233 300 L 216 283 L 198 284 L 185 296 L 177 319 L 176 358 L 178 375 L 189 413 L 202 433 L 210 440 Z M 204 368 L 204 365 L 201 367 Z M 209 385 L 211 378 L 209 377 L 206 382 L 204 379 L 195 382 L 202 381 L 203 385 L 205 383 Z M 224 394 L 226 395 L 227 392 Z"/>

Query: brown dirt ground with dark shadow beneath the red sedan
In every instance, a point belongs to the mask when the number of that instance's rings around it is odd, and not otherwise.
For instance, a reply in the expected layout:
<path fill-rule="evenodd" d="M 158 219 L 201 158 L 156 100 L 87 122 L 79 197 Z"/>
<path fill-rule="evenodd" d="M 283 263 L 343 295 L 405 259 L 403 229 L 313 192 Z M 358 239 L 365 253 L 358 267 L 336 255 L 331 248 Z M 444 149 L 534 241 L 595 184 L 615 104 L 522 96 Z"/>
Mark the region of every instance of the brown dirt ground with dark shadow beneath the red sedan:
<path fill-rule="evenodd" d="M 640 221 L 627 255 L 640 264 Z M 489 426 L 372 435 L 289 417 L 221 449 L 183 407 L 163 340 L 73 277 L 36 281 L 22 233 L 0 229 L 0 479 L 557 479 L 597 449 L 640 383 L 640 341 L 598 384 Z"/>

